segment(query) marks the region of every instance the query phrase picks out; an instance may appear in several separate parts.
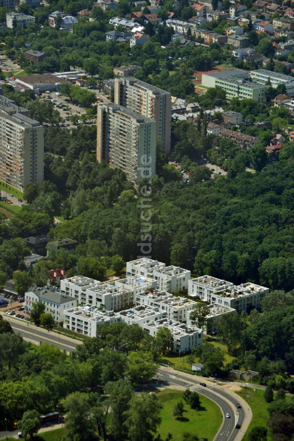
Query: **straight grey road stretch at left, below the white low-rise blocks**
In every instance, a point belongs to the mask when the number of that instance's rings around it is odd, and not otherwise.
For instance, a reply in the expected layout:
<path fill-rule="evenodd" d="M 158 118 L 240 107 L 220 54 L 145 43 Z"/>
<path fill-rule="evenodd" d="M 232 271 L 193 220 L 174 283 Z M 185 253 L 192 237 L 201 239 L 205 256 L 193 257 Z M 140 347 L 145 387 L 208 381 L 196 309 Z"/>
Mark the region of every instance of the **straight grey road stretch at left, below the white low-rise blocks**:
<path fill-rule="evenodd" d="M 67 352 L 73 352 L 75 351 L 75 348 L 77 346 L 77 343 L 68 340 L 63 340 L 59 337 L 58 334 L 52 335 L 52 333 L 44 333 L 43 331 L 38 330 L 37 328 L 31 328 L 28 326 L 27 322 L 22 323 L 22 321 L 19 320 L 9 320 L 9 323 L 11 324 L 12 329 L 15 333 L 20 333 L 20 335 L 27 341 L 31 341 L 35 344 L 42 343 L 48 343 L 48 344 L 54 344 L 57 348 L 60 348 L 62 350 L 65 350 Z"/>

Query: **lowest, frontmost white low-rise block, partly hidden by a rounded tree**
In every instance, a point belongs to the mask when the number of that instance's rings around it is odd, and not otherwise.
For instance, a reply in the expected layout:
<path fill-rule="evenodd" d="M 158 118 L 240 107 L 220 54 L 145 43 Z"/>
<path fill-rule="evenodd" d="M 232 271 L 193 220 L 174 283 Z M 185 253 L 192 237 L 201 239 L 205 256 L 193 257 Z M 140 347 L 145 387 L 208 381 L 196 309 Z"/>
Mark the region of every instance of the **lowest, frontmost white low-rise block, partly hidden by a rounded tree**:
<path fill-rule="evenodd" d="M 169 320 L 163 318 L 162 320 L 153 321 L 150 324 L 143 325 L 143 329 L 147 329 L 149 334 L 153 337 L 156 336 L 158 329 L 162 326 L 166 326 L 171 330 L 174 338 L 174 352 L 188 352 L 192 348 L 202 344 L 203 331 L 194 326 L 186 326 L 179 321 Z"/>

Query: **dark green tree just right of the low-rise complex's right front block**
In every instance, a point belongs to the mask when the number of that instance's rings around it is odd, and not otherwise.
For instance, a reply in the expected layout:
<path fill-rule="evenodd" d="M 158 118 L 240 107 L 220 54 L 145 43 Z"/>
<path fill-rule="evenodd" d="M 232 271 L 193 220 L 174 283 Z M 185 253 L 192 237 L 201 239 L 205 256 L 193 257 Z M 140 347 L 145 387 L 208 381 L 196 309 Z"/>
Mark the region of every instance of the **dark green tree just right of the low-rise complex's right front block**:
<path fill-rule="evenodd" d="M 223 314 L 215 322 L 216 333 L 223 344 L 227 345 L 227 350 L 231 352 L 241 343 L 244 325 L 237 312 Z"/>

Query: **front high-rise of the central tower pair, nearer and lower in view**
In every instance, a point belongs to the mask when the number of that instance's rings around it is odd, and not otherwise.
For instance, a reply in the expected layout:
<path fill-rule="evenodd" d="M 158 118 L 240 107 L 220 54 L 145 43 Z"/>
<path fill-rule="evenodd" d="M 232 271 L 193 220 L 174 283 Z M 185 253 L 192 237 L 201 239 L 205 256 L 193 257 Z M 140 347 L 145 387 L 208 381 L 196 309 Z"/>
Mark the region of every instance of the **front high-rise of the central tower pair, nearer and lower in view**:
<path fill-rule="evenodd" d="M 156 173 L 156 122 L 121 105 L 98 105 L 97 161 L 120 168 L 133 183 L 150 178 Z"/>

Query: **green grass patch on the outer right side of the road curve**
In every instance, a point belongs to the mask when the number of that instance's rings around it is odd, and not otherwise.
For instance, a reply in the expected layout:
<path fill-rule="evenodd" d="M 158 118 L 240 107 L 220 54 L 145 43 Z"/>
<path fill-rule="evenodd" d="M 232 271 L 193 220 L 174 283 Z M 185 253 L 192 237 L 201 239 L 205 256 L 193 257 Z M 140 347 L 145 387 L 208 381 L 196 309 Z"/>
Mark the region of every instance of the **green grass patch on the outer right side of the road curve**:
<path fill-rule="evenodd" d="M 266 427 L 269 418 L 267 411 L 268 403 L 264 400 L 264 391 L 259 389 L 255 390 L 256 392 L 254 392 L 251 388 L 242 387 L 242 390 L 240 392 L 236 392 L 238 393 L 238 395 L 242 396 L 242 398 L 244 398 L 244 400 L 249 404 L 253 414 L 253 418 L 249 424 L 245 436 L 243 437 L 243 441 L 248 441 L 248 432 L 250 432 L 253 427 Z M 250 395 L 250 398 L 247 398 L 246 395 Z M 290 396 L 286 396 L 287 401 L 290 401 L 290 399 Z M 272 440 L 270 434 L 268 434 L 268 440 Z"/>

